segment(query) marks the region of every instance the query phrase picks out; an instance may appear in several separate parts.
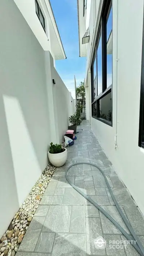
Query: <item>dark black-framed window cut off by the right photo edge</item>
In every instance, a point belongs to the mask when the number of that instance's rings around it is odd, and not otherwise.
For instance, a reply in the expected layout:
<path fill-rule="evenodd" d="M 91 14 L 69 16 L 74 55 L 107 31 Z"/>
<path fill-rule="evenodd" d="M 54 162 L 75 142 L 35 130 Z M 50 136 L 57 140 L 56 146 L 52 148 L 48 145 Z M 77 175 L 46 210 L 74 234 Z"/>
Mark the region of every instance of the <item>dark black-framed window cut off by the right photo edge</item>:
<path fill-rule="evenodd" d="M 141 87 L 140 87 L 140 116 L 139 116 L 139 147 L 144 148 L 144 17 L 143 17 L 143 42 L 141 56 Z"/>

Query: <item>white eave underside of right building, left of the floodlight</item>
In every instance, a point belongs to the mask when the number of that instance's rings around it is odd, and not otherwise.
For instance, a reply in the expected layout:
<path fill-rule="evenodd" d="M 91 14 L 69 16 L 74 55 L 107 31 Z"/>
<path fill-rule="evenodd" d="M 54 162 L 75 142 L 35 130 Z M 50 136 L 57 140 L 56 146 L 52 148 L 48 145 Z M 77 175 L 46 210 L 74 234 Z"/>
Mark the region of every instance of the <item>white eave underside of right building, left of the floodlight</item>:
<path fill-rule="evenodd" d="M 82 37 L 86 32 L 86 20 L 83 17 L 84 0 L 77 0 L 77 14 L 78 14 L 78 37 L 79 37 L 79 52 L 80 57 L 86 57 L 86 44 L 82 44 Z"/>

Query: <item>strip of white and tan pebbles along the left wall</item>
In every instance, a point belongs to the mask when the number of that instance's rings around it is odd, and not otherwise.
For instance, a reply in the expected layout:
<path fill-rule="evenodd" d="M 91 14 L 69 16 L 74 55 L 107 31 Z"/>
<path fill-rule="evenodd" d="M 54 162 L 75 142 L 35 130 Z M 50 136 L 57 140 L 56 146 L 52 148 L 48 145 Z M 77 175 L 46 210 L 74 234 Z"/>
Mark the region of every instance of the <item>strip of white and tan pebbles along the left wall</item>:
<path fill-rule="evenodd" d="M 12 228 L 6 230 L 0 240 L 0 256 L 15 256 L 54 170 L 55 167 L 51 164 L 45 168 L 19 211 L 15 214 L 10 225 Z"/>

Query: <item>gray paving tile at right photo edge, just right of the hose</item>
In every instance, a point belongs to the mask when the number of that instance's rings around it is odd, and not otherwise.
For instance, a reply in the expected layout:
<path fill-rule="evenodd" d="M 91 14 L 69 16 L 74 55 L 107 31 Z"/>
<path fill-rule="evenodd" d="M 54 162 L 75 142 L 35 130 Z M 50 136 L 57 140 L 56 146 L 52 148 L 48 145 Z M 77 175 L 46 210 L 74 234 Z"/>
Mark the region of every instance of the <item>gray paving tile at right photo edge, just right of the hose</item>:
<path fill-rule="evenodd" d="M 144 219 L 136 206 L 124 206 L 124 211 L 137 235 L 144 235 Z"/>

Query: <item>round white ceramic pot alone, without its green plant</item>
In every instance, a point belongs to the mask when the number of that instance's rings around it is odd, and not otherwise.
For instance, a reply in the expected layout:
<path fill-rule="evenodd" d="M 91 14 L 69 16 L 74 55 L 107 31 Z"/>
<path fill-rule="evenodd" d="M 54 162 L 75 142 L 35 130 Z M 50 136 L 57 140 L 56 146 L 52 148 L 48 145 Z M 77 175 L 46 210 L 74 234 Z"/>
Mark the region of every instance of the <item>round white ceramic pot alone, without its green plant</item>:
<path fill-rule="evenodd" d="M 67 149 L 64 148 L 65 151 L 58 153 L 58 154 L 51 154 L 48 152 L 49 161 L 54 165 L 55 167 L 63 166 L 67 160 Z"/>

